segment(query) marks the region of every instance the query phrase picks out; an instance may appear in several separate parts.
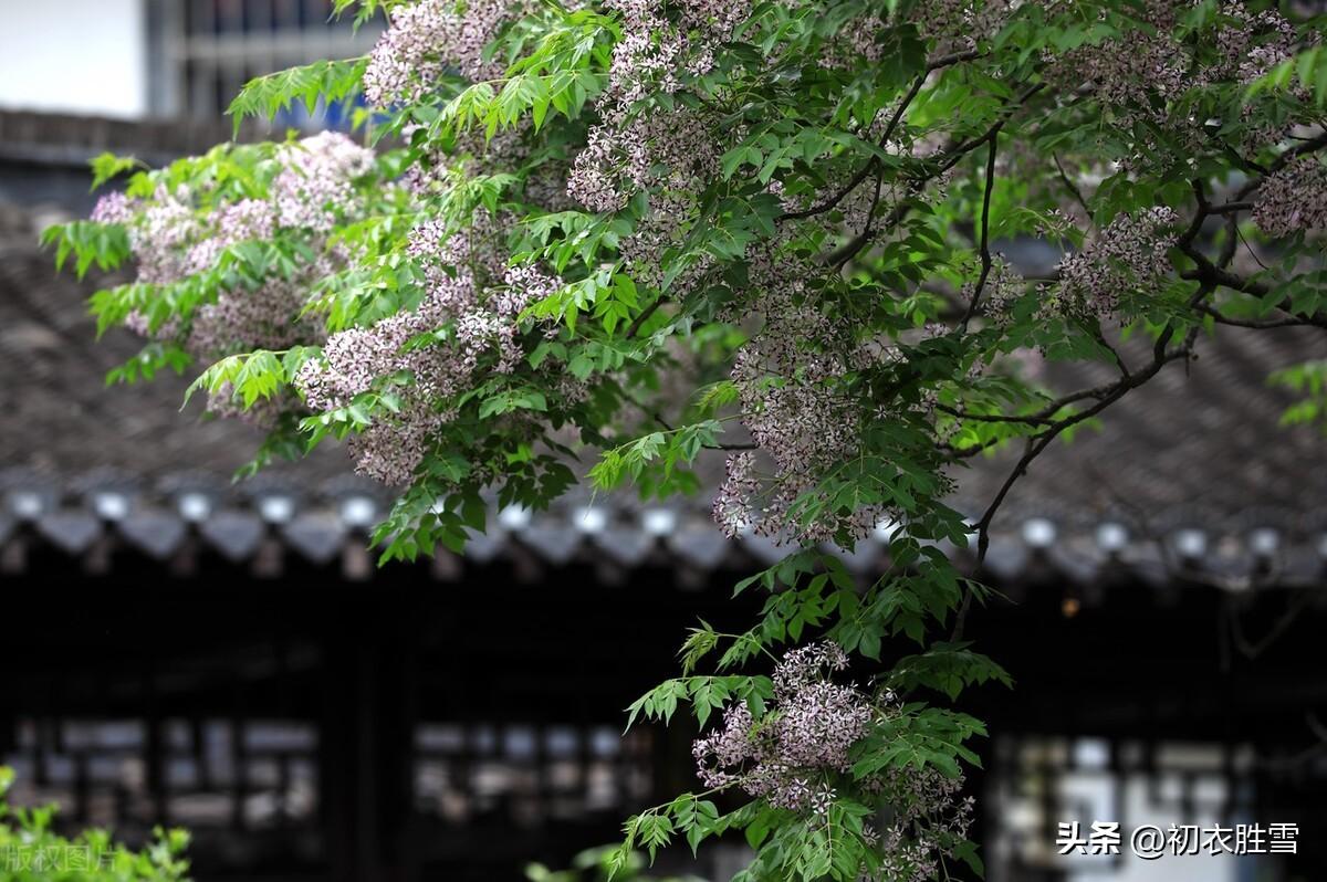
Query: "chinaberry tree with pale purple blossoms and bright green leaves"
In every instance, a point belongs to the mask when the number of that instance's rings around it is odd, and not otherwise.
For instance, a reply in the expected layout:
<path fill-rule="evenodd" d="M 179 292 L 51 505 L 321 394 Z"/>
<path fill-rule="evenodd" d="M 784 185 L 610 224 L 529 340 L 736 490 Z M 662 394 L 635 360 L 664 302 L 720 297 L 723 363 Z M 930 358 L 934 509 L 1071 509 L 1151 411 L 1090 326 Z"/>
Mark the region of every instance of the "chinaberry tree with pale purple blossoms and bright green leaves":
<path fill-rule="evenodd" d="M 983 729 L 950 704 L 1007 678 L 962 639 L 985 590 L 940 545 L 981 556 L 1042 451 L 1221 326 L 1327 328 L 1323 19 L 1218 0 L 337 7 L 385 19 L 373 52 L 256 80 L 232 113 L 362 97 L 354 137 L 162 170 L 105 157 L 98 183 L 125 188 L 48 233 L 78 272 L 137 267 L 93 298 L 102 328 L 146 337 L 118 377 L 203 367 L 210 410 L 267 430 L 255 468 L 345 439 L 397 489 L 387 560 L 459 549 L 486 493 L 666 497 L 726 455 L 715 521 L 788 553 L 739 585 L 768 594 L 750 630 L 701 623 L 681 676 L 632 706 L 713 729 L 702 787 L 633 816 L 622 859 L 744 830 L 743 879 L 979 871 L 959 784 Z M 1003 256 L 1030 239 L 1054 271 Z M 1113 379 L 1051 394 L 1042 359 Z M 1320 395 L 1324 374 L 1285 379 Z M 955 475 L 1006 446 L 1007 481 L 965 520 Z M 881 524 L 889 570 L 859 585 L 824 549 Z"/>

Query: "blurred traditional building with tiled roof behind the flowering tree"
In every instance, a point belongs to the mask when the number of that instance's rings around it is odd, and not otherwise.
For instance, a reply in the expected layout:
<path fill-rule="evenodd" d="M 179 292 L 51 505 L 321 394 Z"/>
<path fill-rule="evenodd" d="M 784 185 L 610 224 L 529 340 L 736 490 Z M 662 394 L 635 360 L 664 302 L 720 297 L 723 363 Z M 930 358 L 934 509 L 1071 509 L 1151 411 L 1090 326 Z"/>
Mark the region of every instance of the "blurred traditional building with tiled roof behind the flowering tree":
<path fill-rule="evenodd" d="M 90 207 L 93 155 L 206 150 L 248 77 L 362 53 L 374 27 L 329 21 L 325 0 L 3 5 L 0 761 L 17 800 L 129 838 L 186 825 L 204 882 L 502 881 L 691 787 L 694 733 L 624 737 L 621 708 L 674 672 L 697 615 L 744 627 L 759 598 L 731 584 L 780 549 L 725 540 L 703 499 L 579 497 L 495 508 L 464 557 L 378 570 L 377 487 L 334 450 L 232 485 L 256 438 L 180 415 L 183 381 L 104 389 L 138 342 L 96 342 L 82 304 L 115 280 L 57 277 L 36 247 Z M 969 787 L 993 882 L 1327 878 L 1327 451 L 1278 427 L 1290 401 L 1263 383 L 1324 346 L 1229 330 L 1038 460 L 995 524 L 981 576 L 1006 599 L 967 633 L 1018 684 L 965 706 L 991 728 Z M 978 509 L 1007 467 L 961 475 L 955 504 Z M 871 578 L 886 538 L 845 562 Z M 1056 854 L 1060 822 L 1093 820 L 1287 822 L 1299 848 Z M 727 878 L 742 857 L 718 844 L 695 869 Z"/>

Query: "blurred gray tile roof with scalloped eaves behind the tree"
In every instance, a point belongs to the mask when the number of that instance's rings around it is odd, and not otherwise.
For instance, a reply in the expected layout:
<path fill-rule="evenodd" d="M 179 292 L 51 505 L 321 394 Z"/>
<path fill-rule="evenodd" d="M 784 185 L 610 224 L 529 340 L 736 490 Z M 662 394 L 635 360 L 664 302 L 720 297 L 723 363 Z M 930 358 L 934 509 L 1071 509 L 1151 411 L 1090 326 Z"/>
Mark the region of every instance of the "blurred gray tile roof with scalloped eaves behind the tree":
<path fill-rule="evenodd" d="M 0 154 L 21 130 L 11 117 L 0 114 Z M 119 141 L 130 135 L 142 138 L 143 131 L 126 129 Z M 105 141 L 114 146 L 115 138 Z M 165 151 L 191 146 L 163 142 Z M 385 497 L 345 473 L 340 451 L 320 450 L 311 460 L 231 487 L 230 475 L 259 440 L 255 430 L 203 422 L 194 407 L 180 414 L 182 378 L 104 389 L 106 370 L 133 355 L 139 341 L 121 330 L 94 340 L 84 301 L 98 280 L 57 276 L 50 255 L 36 247 L 37 229 L 54 212 L 0 204 L 0 544 L 28 524 L 70 553 L 114 535 L 149 554 L 169 556 L 198 535 L 242 560 L 277 536 L 311 560 L 332 560 L 342 541 L 361 536 L 361 524 L 382 511 Z M 1125 357 L 1140 363 L 1145 350 L 1139 341 L 1121 344 Z M 993 574 L 1015 578 L 1030 566 L 1050 565 L 1084 581 L 1097 578 L 1111 561 L 1127 560 L 1135 574 L 1164 580 L 1174 572 L 1168 557 L 1189 557 L 1230 585 L 1247 581 L 1259 566 L 1266 573 L 1270 560 L 1281 568 L 1278 577 L 1294 570 L 1295 578 L 1320 580 L 1327 436 L 1279 427 L 1291 398 L 1265 378 L 1296 361 L 1327 357 L 1327 340 L 1312 329 L 1222 328 L 1200 342 L 1197 354 L 1107 411 L 1100 431 L 1058 443 L 1034 463 L 994 524 Z M 1105 378 L 1083 369 L 1051 374 L 1063 389 Z M 999 455 L 958 470 L 957 507 L 979 515 L 1010 464 L 1009 455 Z M 711 466 L 719 471 L 718 463 Z M 289 517 L 279 516 L 273 499 L 292 500 Z M 598 556 L 630 568 L 664 554 L 709 570 L 779 553 L 756 537 L 723 540 L 706 519 L 703 499 L 669 509 L 616 497 L 604 505 L 593 528 L 576 520 L 575 503 L 533 517 L 508 513 L 470 556 L 486 560 L 519 545 L 551 565 Z M 867 542 L 845 557 L 867 572 L 880 565 L 881 548 Z M 1285 569 L 1290 561 L 1295 565 Z"/>

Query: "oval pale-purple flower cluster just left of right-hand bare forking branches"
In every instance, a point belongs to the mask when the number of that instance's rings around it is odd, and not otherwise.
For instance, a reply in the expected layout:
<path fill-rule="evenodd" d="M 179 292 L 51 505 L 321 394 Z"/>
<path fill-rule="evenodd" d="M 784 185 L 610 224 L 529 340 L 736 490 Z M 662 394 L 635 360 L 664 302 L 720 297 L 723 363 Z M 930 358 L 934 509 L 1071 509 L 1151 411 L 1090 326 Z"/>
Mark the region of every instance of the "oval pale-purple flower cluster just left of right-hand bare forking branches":
<path fill-rule="evenodd" d="M 1051 306 L 1062 313 L 1112 317 L 1120 296 L 1145 288 L 1170 271 L 1178 216 L 1157 207 L 1121 215 L 1097 239 L 1060 261 Z"/>

